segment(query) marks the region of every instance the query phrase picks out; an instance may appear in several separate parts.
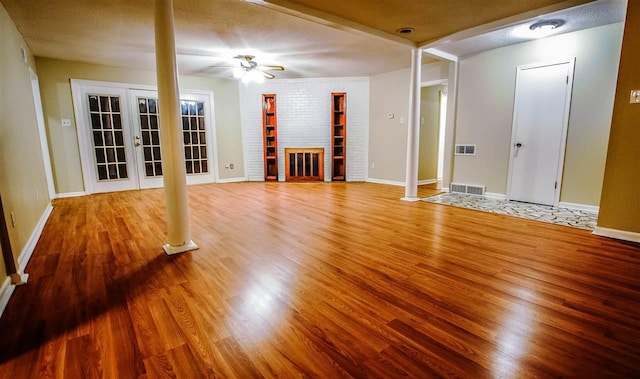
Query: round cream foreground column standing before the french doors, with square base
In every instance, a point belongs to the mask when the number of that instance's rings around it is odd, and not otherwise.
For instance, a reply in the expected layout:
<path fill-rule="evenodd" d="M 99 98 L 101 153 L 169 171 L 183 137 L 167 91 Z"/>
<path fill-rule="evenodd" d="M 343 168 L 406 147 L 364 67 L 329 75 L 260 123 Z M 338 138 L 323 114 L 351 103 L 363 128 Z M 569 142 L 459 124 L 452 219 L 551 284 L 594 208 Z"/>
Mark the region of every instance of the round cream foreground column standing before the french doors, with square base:
<path fill-rule="evenodd" d="M 171 255 L 197 249 L 191 241 L 187 174 L 182 146 L 182 120 L 173 21 L 173 0 L 156 0 L 156 70 L 160 107 L 160 147 L 162 176 L 167 209 L 168 244 L 162 248 Z"/>

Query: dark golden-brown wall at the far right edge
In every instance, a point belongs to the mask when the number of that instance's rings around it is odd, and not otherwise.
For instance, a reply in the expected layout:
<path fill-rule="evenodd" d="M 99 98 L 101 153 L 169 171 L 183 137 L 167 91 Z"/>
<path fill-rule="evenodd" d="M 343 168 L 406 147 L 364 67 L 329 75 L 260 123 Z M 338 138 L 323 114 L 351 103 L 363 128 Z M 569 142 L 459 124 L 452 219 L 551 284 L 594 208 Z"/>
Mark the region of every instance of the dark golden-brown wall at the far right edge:
<path fill-rule="evenodd" d="M 609 151 L 598 226 L 640 233 L 640 104 L 629 94 L 640 89 L 640 2 L 627 8 Z"/>

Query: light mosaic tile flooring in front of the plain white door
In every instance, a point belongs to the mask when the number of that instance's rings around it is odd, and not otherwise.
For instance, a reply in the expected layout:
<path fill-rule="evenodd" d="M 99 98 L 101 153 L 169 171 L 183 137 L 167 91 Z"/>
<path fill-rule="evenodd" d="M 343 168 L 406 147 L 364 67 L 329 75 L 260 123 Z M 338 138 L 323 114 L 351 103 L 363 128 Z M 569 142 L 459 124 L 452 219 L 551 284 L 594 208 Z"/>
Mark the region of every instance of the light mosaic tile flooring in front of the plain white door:
<path fill-rule="evenodd" d="M 593 230 L 598 221 L 597 213 L 459 193 L 443 193 L 422 200 L 588 230 Z"/>

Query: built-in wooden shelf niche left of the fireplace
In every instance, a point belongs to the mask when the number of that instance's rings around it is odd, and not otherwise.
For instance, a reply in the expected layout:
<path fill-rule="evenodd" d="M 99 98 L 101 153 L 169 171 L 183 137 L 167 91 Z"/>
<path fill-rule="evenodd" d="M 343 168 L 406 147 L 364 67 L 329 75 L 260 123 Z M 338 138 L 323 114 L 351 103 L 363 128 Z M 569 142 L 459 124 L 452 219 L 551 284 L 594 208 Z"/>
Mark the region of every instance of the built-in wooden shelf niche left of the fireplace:
<path fill-rule="evenodd" d="M 264 180 L 278 180 L 278 118 L 276 95 L 262 95 L 262 135 L 264 145 Z"/>

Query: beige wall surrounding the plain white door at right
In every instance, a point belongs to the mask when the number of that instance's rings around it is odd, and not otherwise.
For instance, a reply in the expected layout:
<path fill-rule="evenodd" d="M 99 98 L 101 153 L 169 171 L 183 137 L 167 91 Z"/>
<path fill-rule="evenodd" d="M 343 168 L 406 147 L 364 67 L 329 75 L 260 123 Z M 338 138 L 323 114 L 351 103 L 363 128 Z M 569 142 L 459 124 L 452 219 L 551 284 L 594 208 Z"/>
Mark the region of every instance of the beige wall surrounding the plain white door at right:
<path fill-rule="evenodd" d="M 454 181 L 506 193 L 516 67 L 575 56 L 560 200 L 598 205 L 622 27 L 612 24 L 462 59 L 456 143 L 477 144 L 477 152 L 455 158 Z"/>

